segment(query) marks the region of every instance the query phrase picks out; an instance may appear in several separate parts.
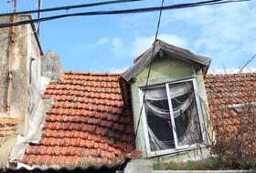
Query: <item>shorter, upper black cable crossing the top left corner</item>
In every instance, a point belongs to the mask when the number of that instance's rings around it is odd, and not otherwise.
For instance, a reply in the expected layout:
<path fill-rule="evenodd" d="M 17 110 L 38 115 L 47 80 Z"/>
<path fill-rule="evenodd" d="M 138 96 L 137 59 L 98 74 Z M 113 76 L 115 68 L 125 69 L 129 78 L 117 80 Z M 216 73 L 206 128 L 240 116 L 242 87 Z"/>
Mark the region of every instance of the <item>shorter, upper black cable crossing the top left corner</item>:
<path fill-rule="evenodd" d="M 120 4 L 120 3 L 129 3 L 129 2 L 136 2 L 136 1 L 143 1 L 143 0 L 114 0 L 114 1 L 106 1 L 100 3 L 91 3 L 91 4 L 82 4 L 82 5 L 66 5 L 66 6 L 58 6 L 52 8 L 44 8 L 40 10 L 27 10 L 15 13 L 5 13 L 0 14 L 0 16 L 8 16 L 8 15 L 24 15 L 24 14 L 35 14 L 35 13 L 43 13 L 43 12 L 52 12 L 52 11 L 60 11 L 60 10 L 69 10 L 75 8 L 85 8 L 91 6 L 99 6 L 99 5 L 111 5 L 111 4 Z"/>

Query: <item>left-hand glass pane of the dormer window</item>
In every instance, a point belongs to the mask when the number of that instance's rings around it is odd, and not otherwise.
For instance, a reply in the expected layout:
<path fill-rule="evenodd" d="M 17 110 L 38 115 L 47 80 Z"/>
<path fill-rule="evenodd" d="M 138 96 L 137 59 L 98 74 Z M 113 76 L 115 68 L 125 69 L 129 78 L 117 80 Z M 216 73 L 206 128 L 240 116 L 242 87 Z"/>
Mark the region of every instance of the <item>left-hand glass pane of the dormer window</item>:
<path fill-rule="evenodd" d="M 165 86 L 147 89 L 145 114 L 151 151 L 175 148 Z"/>

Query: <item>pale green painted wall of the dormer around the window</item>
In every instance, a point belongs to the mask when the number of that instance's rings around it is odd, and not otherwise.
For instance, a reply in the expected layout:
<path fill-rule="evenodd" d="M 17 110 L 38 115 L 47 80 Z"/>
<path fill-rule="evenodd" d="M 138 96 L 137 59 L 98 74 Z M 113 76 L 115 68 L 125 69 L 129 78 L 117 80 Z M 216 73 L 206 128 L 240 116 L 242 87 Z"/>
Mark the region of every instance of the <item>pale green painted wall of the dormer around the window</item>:
<path fill-rule="evenodd" d="M 181 79 L 187 79 L 196 77 L 197 79 L 197 89 L 198 89 L 198 96 L 200 97 L 200 101 L 202 102 L 202 112 L 203 117 L 208 120 L 208 102 L 207 102 L 207 94 L 206 89 L 204 86 L 204 78 L 201 69 L 197 69 L 195 71 L 191 64 L 184 62 L 182 60 L 172 58 L 172 57 L 165 57 L 165 58 L 155 58 L 153 61 L 153 65 L 151 68 L 150 77 L 148 80 L 149 86 L 155 84 L 161 84 L 166 82 L 172 82 Z M 132 102 L 133 102 L 133 117 L 134 117 L 134 125 L 135 129 L 137 128 L 137 122 L 140 117 L 140 109 L 141 109 L 141 97 L 139 88 L 145 86 L 146 83 L 146 76 L 148 73 L 148 66 L 144 68 L 144 70 L 135 77 L 135 80 L 132 84 Z M 209 123 L 206 123 L 208 134 L 211 134 L 211 126 Z M 138 149 L 143 151 L 144 157 L 146 157 L 146 145 L 144 139 L 144 123 L 143 117 L 141 117 L 140 125 L 138 128 L 138 135 L 136 138 L 136 146 Z M 183 151 L 181 153 L 170 154 L 165 157 L 161 157 L 165 160 L 187 160 L 191 157 L 205 158 L 208 155 L 208 148 L 190 150 L 190 151 Z"/>

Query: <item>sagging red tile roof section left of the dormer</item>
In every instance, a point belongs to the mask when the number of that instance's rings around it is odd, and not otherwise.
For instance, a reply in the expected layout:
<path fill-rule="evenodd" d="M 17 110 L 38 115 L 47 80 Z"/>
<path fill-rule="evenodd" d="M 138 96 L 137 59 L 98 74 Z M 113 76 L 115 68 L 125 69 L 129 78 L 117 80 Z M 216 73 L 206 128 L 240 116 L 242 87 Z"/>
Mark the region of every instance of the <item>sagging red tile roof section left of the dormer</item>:
<path fill-rule="evenodd" d="M 28 165 L 112 164 L 133 150 L 131 107 L 123 106 L 121 74 L 65 72 L 43 97 L 54 98 L 44 133 L 21 162 Z"/>

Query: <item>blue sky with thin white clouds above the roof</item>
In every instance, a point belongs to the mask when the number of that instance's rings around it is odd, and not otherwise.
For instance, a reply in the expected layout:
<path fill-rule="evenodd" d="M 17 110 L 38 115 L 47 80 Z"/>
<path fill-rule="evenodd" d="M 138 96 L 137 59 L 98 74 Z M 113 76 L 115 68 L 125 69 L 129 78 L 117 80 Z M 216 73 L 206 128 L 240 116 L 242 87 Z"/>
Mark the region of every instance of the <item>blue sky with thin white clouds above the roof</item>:
<path fill-rule="evenodd" d="M 42 7 L 79 5 L 96 0 L 42 0 Z M 173 5 L 180 0 L 165 0 Z M 68 13 L 160 5 L 144 0 L 125 5 L 104 5 Z M 37 0 L 17 0 L 17 10 L 36 9 Z M 0 12 L 12 12 L 13 3 L 1 0 Z M 256 1 L 165 11 L 159 38 L 169 44 L 212 58 L 210 69 L 243 66 L 256 54 Z M 43 13 L 42 16 L 65 14 Z M 35 15 L 36 16 L 36 15 Z M 54 51 L 65 70 L 120 72 L 133 65 L 133 58 L 152 45 L 158 12 L 134 15 L 70 17 L 41 24 L 44 52 Z M 250 67 L 256 67 L 254 59 Z"/>

